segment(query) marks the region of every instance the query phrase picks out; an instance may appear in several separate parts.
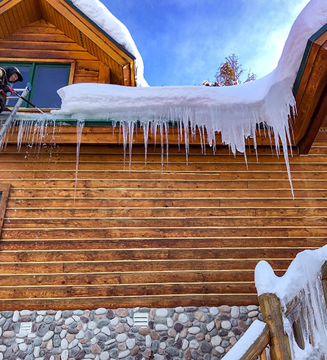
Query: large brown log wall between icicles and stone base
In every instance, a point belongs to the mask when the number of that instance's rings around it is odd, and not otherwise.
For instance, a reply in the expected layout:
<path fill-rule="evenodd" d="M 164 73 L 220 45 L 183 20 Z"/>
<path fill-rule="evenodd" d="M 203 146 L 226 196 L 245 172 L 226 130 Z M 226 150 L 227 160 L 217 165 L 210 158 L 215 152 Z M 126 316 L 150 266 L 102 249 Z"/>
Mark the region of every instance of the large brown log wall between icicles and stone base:
<path fill-rule="evenodd" d="M 262 147 L 259 163 L 228 149 L 170 146 L 129 172 L 118 145 L 8 145 L 0 182 L 10 195 L 0 241 L 0 310 L 99 306 L 256 304 L 255 265 L 279 275 L 303 249 L 326 243 L 327 136 L 285 164 Z"/>

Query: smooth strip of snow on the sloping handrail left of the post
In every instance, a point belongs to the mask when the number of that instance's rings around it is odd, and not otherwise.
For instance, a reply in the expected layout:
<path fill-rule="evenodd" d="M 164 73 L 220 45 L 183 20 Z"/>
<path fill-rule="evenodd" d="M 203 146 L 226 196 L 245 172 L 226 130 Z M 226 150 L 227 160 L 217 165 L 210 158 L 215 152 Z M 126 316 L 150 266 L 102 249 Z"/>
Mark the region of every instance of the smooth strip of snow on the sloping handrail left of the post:
<path fill-rule="evenodd" d="M 266 324 L 260 320 L 255 320 L 246 330 L 245 334 L 237 343 L 225 354 L 221 360 L 237 360 L 245 354 L 248 348 L 257 340 Z"/>

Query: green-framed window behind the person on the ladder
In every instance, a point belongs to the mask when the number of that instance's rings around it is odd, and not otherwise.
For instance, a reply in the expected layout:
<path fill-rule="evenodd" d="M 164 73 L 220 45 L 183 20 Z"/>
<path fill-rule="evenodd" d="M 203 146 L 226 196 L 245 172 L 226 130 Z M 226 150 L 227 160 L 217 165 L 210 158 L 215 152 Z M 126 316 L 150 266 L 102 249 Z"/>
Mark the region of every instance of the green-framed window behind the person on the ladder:
<path fill-rule="evenodd" d="M 32 89 L 26 99 L 38 108 L 60 108 L 61 98 L 57 90 L 68 84 L 70 64 L 54 63 L 0 63 L 0 67 L 15 66 L 22 73 L 23 81 L 15 83 L 16 88 L 25 88 L 26 83 Z M 7 106 L 14 106 L 17 99 L 8 98 Z M 23 108 L 32 106 L 23 102 Z"/>

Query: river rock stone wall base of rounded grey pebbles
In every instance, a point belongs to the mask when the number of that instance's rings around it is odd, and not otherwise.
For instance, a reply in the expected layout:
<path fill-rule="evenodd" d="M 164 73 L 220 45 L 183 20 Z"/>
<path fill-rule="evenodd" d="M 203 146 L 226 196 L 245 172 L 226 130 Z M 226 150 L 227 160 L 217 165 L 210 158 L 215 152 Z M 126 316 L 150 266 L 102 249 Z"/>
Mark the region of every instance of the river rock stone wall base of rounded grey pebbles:
<path fill-rule="evenodd" d="M 148 327 L 134 327 L 136 312 L 149 313 Z M 2 311 L 0 360 L 217 360 L 257 318 L 255 305 Z"/>

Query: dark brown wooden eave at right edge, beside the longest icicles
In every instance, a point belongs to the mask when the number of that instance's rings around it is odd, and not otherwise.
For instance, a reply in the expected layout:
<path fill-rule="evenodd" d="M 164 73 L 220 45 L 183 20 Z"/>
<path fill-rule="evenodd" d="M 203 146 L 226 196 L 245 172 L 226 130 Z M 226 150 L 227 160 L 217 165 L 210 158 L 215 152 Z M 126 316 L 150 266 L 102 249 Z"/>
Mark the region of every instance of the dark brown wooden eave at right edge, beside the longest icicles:
<path fill-rule="evenodd" d="M 308 154 L 321 126 L 327 126 L 327 24 L 308 40 L 293 92 L 294 143 L 299 154 Z"/>

